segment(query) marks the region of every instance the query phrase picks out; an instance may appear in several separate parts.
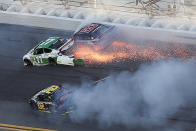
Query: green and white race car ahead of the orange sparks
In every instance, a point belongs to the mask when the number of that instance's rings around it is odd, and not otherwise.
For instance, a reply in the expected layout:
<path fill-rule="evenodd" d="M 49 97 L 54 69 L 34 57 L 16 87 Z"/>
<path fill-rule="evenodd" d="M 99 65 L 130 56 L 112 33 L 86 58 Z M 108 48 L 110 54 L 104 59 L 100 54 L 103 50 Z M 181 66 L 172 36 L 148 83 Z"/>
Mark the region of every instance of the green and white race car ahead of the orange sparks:
<path fill-rule="evenodd" d="M 36 47 L 23 56 L 25 66 L 43 66 L 43 65 L 84 65 L 82 59 L 75 59 L 74 56 L 62 55 L 61 47 L 69 49 L 74 42 L 60 37 L 49 37 L 40 42 Z"/>

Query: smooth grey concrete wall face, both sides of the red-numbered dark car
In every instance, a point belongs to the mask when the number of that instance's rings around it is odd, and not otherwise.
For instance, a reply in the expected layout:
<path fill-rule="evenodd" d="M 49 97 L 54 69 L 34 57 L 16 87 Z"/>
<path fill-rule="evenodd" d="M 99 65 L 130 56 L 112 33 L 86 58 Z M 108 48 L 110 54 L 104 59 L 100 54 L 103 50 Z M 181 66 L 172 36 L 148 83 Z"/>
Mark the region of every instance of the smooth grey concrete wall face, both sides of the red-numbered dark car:
<path fill-rule="evenodd" d="M 0 23 L 76 31 L 81 24 L 83 25 L 87 22 L 73 18 L 0 12 Z M 186 25 L 179 26 L 180 28 L 183 28 L 183 30 L 175 30 L 170 27 L 152 28 L 116 23 L 107 24 L 114 24 L 120 27 L 127 37 L 131 35 L 134 39 L 142 39 L 144 42 L 146 40 L 154 40 L 179 44 L 196 44 L 196 28 L 192 28 L 193 31 L 190 31 Z"/>

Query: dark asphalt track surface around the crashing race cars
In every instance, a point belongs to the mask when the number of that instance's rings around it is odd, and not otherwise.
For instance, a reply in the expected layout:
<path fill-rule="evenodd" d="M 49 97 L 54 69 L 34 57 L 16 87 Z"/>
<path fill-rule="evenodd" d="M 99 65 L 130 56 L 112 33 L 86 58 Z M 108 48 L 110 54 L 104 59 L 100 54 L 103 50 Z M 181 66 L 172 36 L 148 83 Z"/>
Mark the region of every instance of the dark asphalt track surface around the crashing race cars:
<path fill-rule="evenodd" d="M 37 27 L 0 24 L 0 123 L 48 128 L 61 131 L 124 131 L 124 130 L 187 130 L 194 131 L 195 121 L 168 120 L 164 125 L 147 127 L 99 127 L 96 122 L 74 123 L 69 119 L 35 114 L 29 108 L 28 98 L 37 91 L 59 83 L 80 84 L 106 77 L 108 68 L 45 66 L 25 68 L 22 56 L 49 36 L 68 38 L 73 32 Z M 161 121 L 161 120 L 159 120 Z M 160 122 L 161 123 L 161 122 Z"/>

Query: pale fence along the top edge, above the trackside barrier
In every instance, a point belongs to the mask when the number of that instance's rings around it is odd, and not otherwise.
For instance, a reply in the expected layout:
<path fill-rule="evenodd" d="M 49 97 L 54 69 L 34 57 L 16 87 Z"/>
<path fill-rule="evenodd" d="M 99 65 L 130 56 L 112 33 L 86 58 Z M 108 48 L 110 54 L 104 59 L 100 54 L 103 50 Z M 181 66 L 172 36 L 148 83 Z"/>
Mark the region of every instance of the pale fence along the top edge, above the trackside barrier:
<path fill-rule="evenodd" d="M 175 16 L 176 14 L 196 15 L 196 2 L 194 0 L 13 0 L 25 6 L 34 3 L 54 5 L 54 8 L 64 9 L 96 9 L 124 13 L 140 13 L 149 16 Z M 37 3 L 37 4 L 35 4 Z M 4 8 L 2 7 L 4 6 Z M 6 10 L 5 5 L 0 9 Z M 47 7 L 45 7 L 47 8 Z"/>

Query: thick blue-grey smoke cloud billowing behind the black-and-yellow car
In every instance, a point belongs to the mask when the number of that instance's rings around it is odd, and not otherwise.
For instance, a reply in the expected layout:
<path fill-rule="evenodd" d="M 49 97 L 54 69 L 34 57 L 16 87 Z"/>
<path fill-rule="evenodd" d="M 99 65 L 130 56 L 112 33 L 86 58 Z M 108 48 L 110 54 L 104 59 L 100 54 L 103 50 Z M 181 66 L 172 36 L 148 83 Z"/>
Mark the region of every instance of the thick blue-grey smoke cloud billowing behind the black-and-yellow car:
<path fill-rule="evenodd" d="M 170 60 L 135 73 L 112 74 L 90 88 L 84 83 L 73 93 L 76 110 L 70 117 L 77 122 L 97 120 L 102 126 L 160 124 L 157 118 L 174 115 L 195 99 L 195 76 L 193 64 Z"/>

